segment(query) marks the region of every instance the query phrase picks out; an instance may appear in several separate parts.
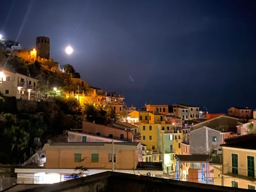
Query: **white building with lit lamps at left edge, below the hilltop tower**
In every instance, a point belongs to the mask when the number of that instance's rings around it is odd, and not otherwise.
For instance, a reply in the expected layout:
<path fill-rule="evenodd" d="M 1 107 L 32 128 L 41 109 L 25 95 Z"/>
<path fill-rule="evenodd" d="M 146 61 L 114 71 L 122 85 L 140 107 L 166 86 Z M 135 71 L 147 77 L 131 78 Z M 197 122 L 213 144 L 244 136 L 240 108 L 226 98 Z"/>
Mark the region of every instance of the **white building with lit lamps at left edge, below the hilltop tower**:
<path fill-rule="evenodd" d="M 0 92 L 6 97 L 38 100 L 37 85 L 35 78 L 0 68 Z"/>

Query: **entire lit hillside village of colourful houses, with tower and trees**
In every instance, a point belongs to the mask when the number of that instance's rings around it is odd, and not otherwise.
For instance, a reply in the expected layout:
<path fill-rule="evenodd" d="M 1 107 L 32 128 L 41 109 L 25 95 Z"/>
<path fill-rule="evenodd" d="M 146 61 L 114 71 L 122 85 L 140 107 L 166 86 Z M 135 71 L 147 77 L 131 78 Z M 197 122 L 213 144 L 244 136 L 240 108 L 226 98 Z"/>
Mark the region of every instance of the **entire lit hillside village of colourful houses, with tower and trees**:
<path fill-rule="evenodd" d="M 55 183 L 115 170 L 255 190 L 256 111 L 249 107 L 230 107 L 227 114 L 182 103 L 127 107 L 124 95 L 89 85 L 71 65 L 61 68 L 50 58 L 48 37 L 37 37 L 31 50 L 5 47 L 0 54 L 1 133 L 27 137 L 23 145 L 34 145 L 30 153 L 19 141 L 10 145 L 11 151 L 22 150 L 15 156 L 17 183 Z M 65 111 L 61 118 L 60 111 Z M 22 128 L 15 135 L 20 124 L 13 127 L 13 116 L 6 114 L 34 118 L 24 123 L 33 133 Z M 46 117 L 47 123 L 38 123 Z M 13 129 L 11 136 L 6 129 Z"/>

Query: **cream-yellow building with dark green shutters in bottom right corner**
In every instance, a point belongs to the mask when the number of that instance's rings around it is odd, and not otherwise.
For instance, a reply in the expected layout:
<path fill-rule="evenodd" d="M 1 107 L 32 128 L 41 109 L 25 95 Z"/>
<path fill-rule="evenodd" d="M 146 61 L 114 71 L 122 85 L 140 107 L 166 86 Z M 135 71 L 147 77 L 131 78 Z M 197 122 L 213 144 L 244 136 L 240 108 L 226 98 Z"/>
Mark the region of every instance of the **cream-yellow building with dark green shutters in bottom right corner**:
<path fill-rule="evenodd" d="M 214 185 L 255 190 L 256 134 L 225 141 L 222 165 L 214 166 Z"/>

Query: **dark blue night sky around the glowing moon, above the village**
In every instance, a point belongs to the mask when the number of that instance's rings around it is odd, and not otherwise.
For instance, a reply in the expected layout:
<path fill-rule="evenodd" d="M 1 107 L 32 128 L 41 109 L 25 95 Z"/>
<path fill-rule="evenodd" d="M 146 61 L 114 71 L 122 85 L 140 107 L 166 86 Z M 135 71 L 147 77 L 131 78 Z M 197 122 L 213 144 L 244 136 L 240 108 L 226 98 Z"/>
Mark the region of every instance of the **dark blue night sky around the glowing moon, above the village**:
<path fill-rule="evenodd" d="M 6 0 L 0 34 L 50 37 L 51 58 L 127 106 L 256 108 L 256 1 Z"/>

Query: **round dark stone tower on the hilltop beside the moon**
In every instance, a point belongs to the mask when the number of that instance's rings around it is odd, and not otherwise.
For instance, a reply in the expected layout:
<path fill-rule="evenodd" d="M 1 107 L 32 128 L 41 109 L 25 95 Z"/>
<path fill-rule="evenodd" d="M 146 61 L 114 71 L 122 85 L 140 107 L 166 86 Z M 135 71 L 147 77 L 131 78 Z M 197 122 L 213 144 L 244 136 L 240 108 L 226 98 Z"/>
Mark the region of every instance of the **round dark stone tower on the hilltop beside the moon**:
<path fill-rule="evenodd" d="M 50 58 L 50 38 L 36 37 L 37 57 L 49 59 Z"/>

